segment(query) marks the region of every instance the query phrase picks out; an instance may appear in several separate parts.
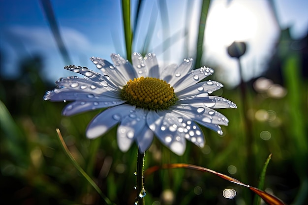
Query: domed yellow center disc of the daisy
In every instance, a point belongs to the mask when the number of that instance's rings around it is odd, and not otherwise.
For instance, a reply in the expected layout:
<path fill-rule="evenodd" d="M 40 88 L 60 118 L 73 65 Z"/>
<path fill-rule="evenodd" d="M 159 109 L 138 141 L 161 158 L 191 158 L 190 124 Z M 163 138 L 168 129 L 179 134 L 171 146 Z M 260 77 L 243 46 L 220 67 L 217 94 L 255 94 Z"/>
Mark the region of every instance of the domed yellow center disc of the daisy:
<path fill-rule="evenodd" d="M 122 89 L 123 100 L 129 104 L 151 110 L 167 109 L 178 100 L 173 87 L 157 78 L 135 78 Z"/>

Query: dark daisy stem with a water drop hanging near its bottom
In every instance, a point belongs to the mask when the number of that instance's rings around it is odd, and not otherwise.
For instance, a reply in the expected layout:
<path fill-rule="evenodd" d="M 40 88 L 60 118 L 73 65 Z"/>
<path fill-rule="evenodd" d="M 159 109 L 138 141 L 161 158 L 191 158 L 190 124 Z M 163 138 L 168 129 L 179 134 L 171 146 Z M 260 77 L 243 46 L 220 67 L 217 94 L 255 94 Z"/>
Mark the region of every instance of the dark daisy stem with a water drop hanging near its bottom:
<path fill-rule="evenodd" d="M 143 178 L 144 178 L 144 156 L 145 153 L 140 153 L 138 150 L 137 154 L 137 200 L 138 205 L 144 205 L 144 197 L 146 196 L 146 190 L 143 186 Z"/>

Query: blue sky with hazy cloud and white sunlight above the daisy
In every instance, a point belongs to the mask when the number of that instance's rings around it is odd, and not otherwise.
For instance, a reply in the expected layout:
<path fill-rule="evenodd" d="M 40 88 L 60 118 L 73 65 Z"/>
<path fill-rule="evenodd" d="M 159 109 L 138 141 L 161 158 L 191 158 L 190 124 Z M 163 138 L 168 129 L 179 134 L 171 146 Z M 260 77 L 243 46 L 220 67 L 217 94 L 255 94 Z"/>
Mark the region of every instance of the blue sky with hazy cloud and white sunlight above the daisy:
<path fill-rule="evenodd" d="M 227 2 L 228 0 L 214 0 L 211 4 L 203 61 L 205 65 L 211 64 L 214 69 L 219 70 L 218 80 L 234 86 L 239 80 L 236 62 L 226 54 L 227 41 L 222 42 L 233 35 L 237 38 L 238 35 L 239 39 L 235 40 L 241 40 L 243 37 L 245 38 L 243 40 L 249 43 L 249 50 L 243 57 L 243 67 L 246 70 L 244 73 L 246 79 L 249 79 L 264 70 L 264 63 L 273 53 L 279 28 L 267 0 L 232 0 L 226 6 Z M 308 14 L 305 9 L 308 8 L 308 1 L 275 0 L 274 2 L 280 27 L 291 26 L 294 38 L 306 35 Z M 92 56 L 104 59 L 110 59 L 111 53 L 120 53 L 124 56 L 120 0 L 51 0 L 51 3 L 72 64 L 95 69 L 89 60 Z M 136 1 L 131 0 L 131 3 L 133 15 Z M 164 23 L 168 23 L 168 27 L 167 30 L 163 30 L 158 0 L 144 0 L 140 24 L 135 32 L 134 51 L 142 51 L 147 31 L 151 27 L 153 33 L 149 50 L 156 53 L 161 63 L 180 63 L 187 57 L 186 55 L 193 57 L 196 51 L 200 5 L 201 0 L 168 0 L 168 19 L 163 19 Z M 220 11 L 217 8 L 220 8 Z M 229 17 L 236 17 L 237 13 L 242 13 L 245 17 L 236 20 L 239 25 L 224 30 L 222 27 L 228 27 L 224 25 L 225 19 L 229 18 L 224 15 L 232 10 L 231 8 L 234 8 L 235 13 L 230 13 Z M 190 12 L 188 20 L 187 11 Z M 36 54 L 43 58 L 43 74 L 50 81 L 73 75 L 63 69 L 66 64 L 57 49 L 39 0 L 29 0 L 27 3 L 24 0 L 0 0 L 0 13 L 0 49 L 4 57 L 1 62 L 2 76 L 15 78 L 19 73 L 20 60 Z M 249 21 L 242 21 L 243 19 Z M 184 37 L 185 21 L 189 21 L 188 37 Z M 242 28 L 246 29 L 241 30 Z M 162 43 L 166 36 L 180 37 L 163 52 Z"/>

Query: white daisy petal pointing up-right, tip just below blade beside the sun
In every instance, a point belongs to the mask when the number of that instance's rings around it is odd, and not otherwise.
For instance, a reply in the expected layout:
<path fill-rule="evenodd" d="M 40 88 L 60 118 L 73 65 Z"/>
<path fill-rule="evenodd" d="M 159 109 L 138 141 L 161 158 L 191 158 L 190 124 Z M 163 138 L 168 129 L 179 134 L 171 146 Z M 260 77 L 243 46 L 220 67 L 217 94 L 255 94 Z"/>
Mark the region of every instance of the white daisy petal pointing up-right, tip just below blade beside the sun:
<path fill-rule="evenodd" d="M 171 79 L 167 82 L 173 86 L 176 82 L 178 82 L 183 76 L 185 76 L 192 67 L 193 59 L 187 58 L 177 66 L 175 69 L 172 70 Z"/>

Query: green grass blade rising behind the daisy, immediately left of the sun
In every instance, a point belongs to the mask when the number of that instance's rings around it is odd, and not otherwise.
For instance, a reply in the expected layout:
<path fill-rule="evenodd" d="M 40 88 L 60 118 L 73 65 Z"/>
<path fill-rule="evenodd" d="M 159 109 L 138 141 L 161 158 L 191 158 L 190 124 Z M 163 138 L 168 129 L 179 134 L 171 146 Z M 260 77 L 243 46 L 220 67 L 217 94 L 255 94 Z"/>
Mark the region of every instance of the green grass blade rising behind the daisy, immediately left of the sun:
<path fill-rule="evenodd" d="M 197 38 L 197 54 L 196 54 L 196 66 L 201 67 L 202 54 L 203 54 L 203 41 L 204 41 L 204 32 L 205 32 L 205 23 L 208 16 L 208 11 L 210 7 L 210 0 L 203 0 L 200 20 L 199 20 L 199 29 L 198 29 L 198 38 Z"/>

